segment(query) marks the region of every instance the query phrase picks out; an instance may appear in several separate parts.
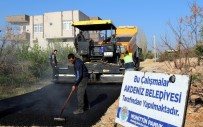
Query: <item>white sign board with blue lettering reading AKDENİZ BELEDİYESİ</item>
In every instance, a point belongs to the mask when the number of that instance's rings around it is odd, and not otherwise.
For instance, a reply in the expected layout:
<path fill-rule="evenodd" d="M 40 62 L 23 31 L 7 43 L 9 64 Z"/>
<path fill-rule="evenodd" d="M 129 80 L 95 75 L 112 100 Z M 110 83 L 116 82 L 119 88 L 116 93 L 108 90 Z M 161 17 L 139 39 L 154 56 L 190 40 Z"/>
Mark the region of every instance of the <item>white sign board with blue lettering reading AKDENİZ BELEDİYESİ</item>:
<path fill-rule="evenodd" d="M 188 75 L 127 71 L 115 122 L 125 127 L 181 127 L 189 88 Z"/>

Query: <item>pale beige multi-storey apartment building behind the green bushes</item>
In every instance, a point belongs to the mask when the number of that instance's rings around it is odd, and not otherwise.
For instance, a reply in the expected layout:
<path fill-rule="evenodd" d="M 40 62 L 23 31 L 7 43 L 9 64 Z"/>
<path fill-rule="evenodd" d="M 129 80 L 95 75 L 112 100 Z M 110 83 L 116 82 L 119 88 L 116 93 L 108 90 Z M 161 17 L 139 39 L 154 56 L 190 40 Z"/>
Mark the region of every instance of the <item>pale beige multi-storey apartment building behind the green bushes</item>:
<path fill-rule="evenodd" d="M 91 17 L 80 10 L 48 12 L 36 16 L 7 16 L 6 21 L 9 24 L 19 27 L 17 34 L 7 30 L 7 39 L 26 41 L 31 47 L 38 43 L 42 48 L 47 48 L 50 42 L 57 41 L 73 46 L 74 37 L 79 33 L 79 30 L 73 29 L 72 22 L 89 19 Z"/>

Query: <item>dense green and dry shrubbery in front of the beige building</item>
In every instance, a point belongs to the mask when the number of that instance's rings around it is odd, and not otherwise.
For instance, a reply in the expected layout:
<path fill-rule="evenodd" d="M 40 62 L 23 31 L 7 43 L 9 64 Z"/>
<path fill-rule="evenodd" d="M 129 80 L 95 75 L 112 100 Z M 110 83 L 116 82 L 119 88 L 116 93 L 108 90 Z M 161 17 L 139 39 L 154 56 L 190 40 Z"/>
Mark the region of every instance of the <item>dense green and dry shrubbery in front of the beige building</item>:
<path fill-rule="evenodd" d="M 57 48 L 42 49 L 38 44 L 28 49 L 27 42 L 16 46 L 14 43 L 1 46 L 0 49 L 0 84 L 21 85 L 29 84 L 52 73 L 49 56 L 57 49 L 57 60 L 60 64 L 67 64 L 67 55 L 74 53 L 74 48 L 61 43 L 55 43 Z M 51 77 L 51 76 L 50 76 Z"/>

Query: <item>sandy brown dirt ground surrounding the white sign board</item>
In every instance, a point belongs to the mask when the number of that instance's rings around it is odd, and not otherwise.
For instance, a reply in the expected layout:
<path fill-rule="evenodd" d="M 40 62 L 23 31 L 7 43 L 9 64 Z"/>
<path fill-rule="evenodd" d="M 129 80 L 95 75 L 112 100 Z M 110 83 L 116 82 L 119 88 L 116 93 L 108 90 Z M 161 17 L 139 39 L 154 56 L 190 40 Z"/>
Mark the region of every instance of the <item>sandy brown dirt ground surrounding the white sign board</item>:
<path fill-rule="evenodd" d="M 196 59 L 191 60 L 191 64 L 195 65 L 190 68 L 190 74 L 200 73 L 203 75 L 203 65 L 196 66 Z M 168 62 L 153 62 L 153 60 L 145 60 L 141 62 L 141 71 L 174 73 L 180 74 L 181 71 L 173 69 L 173 64 Z M 196 93 L 196 94 L 195 94 Z M 203 127 L 203 83 L 192 82 L 189 95 L 190 103 L 188 103 L 185 127 Z M 199 100 L 201 99 L 201 100 Z M 112 104 L 101 120 L 93 127 L 113 127 L 115 116 L 118 108 L 119 98 Z M 197 103 L 196 103 L 197 102 Z M 117 125 L 117 127 L 122 127 Z"/>

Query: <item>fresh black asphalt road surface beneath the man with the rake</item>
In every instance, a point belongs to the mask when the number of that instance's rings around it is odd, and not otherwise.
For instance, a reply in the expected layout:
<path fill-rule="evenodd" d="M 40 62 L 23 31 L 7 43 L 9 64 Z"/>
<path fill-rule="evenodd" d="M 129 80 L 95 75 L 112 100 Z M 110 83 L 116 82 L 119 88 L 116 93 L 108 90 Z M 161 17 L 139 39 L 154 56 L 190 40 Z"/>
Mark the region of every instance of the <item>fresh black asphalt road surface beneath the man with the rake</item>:
<path fill-rule="evenodd" d="M 108 107 L 120 95 L 121 84 L 88 85 L 91 109 L 74 115 L 77 100 L 74 92 L 63 117 L 54 121 L 71 90 L 69 84 L 50 84 L 35 92 L 0 101 L 0 126 L 68 126 L 90 127 L 100 120 Z"/>

